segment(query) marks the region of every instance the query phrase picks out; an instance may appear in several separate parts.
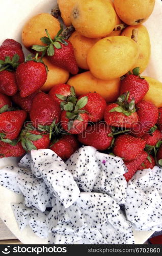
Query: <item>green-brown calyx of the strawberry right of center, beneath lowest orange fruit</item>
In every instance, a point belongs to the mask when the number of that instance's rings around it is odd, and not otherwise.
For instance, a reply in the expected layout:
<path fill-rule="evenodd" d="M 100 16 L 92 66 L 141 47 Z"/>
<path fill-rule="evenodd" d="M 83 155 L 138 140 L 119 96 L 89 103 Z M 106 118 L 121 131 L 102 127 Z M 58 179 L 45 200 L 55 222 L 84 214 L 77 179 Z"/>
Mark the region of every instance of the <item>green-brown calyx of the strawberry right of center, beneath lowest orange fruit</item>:
<path fill-rule="evenodd" d="M 132 113 L 136 112 L 134 99 L 128 103 L 128 98 L 129 92 L 120 95 L 117 102 L 118 106 L 109 112 L 123 113 L 125 116 L 130 116 Z"/>

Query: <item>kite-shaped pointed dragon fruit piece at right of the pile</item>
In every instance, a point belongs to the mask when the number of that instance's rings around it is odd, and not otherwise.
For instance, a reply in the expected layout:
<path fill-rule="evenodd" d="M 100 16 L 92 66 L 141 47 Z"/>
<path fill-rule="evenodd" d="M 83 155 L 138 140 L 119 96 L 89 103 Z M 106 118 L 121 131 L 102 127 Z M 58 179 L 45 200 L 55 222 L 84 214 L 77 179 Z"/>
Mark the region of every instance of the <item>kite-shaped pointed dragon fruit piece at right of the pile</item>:
<path fill-rule="evenodd" d="M 131 181 L 128 182 L 127 198 L 125 203 L 127 220 L 132 223 L 136 223 L 145 213 L 151 202 L 152 200 L 144 193 L 144 191 L 134 185 Z"/>

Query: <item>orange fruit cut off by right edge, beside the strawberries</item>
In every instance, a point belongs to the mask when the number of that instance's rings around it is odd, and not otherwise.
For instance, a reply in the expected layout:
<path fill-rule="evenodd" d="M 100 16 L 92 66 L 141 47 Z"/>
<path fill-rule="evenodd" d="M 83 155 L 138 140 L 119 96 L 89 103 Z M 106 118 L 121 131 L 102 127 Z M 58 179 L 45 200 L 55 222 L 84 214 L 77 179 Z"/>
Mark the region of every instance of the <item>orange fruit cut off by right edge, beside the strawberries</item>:
<path fill-rule="evenodd" d="M 149 91 L 144 97 L 144 100 L 151 101 L 157 106 L 157 108 L 161 108 L 162 107 L 162 82 L 148 76 L 144 76 L 144 77 L 148 81 L 150 86 Z"/>

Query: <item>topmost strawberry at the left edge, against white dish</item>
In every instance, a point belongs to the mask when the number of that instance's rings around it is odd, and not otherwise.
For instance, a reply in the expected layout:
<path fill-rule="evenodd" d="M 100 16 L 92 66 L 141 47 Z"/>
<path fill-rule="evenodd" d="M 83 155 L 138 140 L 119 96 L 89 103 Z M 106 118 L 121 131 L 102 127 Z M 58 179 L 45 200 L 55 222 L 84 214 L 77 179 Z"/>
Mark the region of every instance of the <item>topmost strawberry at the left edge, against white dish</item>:
<path fill-rule="evenodd" d="M 19 63 L 22 63 L 24 61 L 22 46 L 14 39 L 6 39 L 0 46 L 0 59 L 5 60 L 7 56 L 12 59 L 15 54 L 19 56 Z"/>

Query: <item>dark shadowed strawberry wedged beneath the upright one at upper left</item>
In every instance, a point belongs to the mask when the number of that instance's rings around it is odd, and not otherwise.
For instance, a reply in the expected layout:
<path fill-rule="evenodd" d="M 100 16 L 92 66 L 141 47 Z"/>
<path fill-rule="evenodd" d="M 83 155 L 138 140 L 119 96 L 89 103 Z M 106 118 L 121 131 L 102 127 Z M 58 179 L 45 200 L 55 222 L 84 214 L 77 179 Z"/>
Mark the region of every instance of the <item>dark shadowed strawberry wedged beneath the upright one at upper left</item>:
<path fill-rule="evenodd" d="M 17 92 L 17 93 L 12 97 L 12 100 L 13 100 L 13 102 L 15 102 L 18 106 L 20 106 L 22 110 L 25 110 L 25 111 L 27 111 L 27 112 L 30 112 L 30 111 L 31 111 L 31 108 L 32 108 L 33 99 L 34 99 L 34 97 L 36 96 L 37 93 L 38 93 L 38 92 L 35 92 L 35 93 L 31 94 L 31 95 L 28 96 L 28 97 L 21 98 L 20 93 Z"/>

